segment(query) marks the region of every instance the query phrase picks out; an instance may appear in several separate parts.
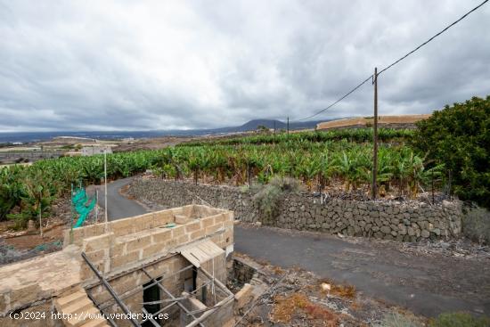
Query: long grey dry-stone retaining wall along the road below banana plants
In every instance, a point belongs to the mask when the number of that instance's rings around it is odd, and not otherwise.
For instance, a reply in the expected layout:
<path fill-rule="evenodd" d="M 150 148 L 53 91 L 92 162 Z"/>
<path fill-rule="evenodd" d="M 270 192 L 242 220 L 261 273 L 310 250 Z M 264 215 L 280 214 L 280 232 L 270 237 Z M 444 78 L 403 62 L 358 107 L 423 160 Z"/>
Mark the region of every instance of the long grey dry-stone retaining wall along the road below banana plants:
<path fill-rule="evenodd" d="M 450 238 L 461 233 L 459 201 L 432 206 L 419 201 L 332 199 L 320 204 L 320 199 L 308 192 L 285 193 L 280 201 L 280 214 L 265 218 L 254 203 L 253 194 L 233 186 L 138 179 L 129 193 L 136 199 L 168 207 L 207 202 L 213 207 L 233 210 L 235 218 L 244 222 L 297 230 L 397 241 Z"/>

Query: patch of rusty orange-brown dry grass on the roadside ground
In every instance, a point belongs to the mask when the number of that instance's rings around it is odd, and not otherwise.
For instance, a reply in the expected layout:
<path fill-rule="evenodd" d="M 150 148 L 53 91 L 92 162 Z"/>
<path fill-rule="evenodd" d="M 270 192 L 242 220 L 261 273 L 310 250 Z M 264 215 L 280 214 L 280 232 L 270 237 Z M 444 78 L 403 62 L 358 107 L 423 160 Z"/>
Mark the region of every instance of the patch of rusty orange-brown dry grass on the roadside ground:
<path fill-rule="evenodd" d="M 290 323 L 295 315 L 303 313 L 308 325 L 334 327 L 339 324 L 339 315 L 329 309 L 312 303 L 305 294 L 294 293 L 290 296 L 276 296 L 272 312 L 274 323 Z"/>

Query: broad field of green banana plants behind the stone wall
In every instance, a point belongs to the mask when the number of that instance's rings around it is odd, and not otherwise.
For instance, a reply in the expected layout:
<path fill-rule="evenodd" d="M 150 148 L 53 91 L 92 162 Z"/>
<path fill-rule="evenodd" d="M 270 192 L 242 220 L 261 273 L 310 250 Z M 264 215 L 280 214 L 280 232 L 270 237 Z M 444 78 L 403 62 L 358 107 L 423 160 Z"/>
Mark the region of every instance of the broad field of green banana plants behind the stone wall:
<path fill-rule="evenodd" d="M 340 184 L 346 192 L 369 191 L 372 182 L 372 129 L 257 135 L 183 143 L 159 151 L 107 157 L 108 179 L 152 169 L 161 178 L 192 178 L 194 183 L 266 184 L 273 176 L 301 180 L 308 190 Z M 424 162 L 404 144 L 411 131 L 381 129 L 378 183 L 415 197 L 441 177 L 442 166 Z M 69 194 L 71 184 L 100 184 L 103 156 L 45 159 L 29 167 L 0 170 L 0 220 L 20 222 L 48 215 L 53 200 Z M 40 212 L 42 211 L 42 212 Z"/>

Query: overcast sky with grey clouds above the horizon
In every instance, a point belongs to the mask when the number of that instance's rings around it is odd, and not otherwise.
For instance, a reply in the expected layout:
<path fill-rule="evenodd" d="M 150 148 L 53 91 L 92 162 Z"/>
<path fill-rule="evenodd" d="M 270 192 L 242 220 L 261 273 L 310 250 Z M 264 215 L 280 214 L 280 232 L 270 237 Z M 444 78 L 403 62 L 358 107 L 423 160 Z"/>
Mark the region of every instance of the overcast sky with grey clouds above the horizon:
<path fill-rule="evenodd" d="M 0 0 L 0 131 L 306 117 L 481 0 Z M 379 79 L 380 115 L 490 94 L 490 4 Z M 372 85 L 318 119 L 372 116 Z"/>

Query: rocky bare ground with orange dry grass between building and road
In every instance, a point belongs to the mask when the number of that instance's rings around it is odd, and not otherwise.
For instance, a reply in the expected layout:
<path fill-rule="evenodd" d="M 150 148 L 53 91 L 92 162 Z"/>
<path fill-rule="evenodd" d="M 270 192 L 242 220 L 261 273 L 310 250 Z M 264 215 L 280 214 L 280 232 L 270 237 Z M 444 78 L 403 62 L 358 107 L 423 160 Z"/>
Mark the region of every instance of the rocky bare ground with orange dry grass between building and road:
<path fill-rule="evenodd" d="M 368 326 L 387 315 L 403 315 L 418 323 L 426 318 L 368 298 L 355 287 L 337 284 L 298 267 L 282 268 L 236 253 L 258 266 L 261 293 L 235 316 L 238 326 Z"/>

